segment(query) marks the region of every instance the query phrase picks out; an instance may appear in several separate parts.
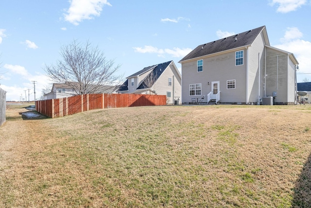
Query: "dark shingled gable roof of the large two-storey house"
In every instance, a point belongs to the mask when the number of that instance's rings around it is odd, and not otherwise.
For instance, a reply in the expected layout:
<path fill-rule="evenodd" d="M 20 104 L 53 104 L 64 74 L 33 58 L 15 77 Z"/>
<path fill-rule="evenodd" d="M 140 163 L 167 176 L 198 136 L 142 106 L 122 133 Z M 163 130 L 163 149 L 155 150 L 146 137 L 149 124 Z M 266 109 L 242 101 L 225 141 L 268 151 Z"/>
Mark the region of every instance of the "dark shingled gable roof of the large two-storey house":
<path fill-rule="evenodd" d="M 256 37 L 261 33 L 262 30 L 265 29 L 265 26 L 261 26 L 259 28 L 255 28 L 240 34 L 231 35 L 229 37 L 225 37 L 219 40 L 215 40 L 206 44 L 202 44 L 197 46 L 193 51 L 191 51 L 188 55 L 186 55 L 179 62 L 183 62 L 189 59 L 198 58 L 201 56 L 223 52 L 230 49 L 240 48 L 243 46 L 251 45 Z M 268 36 L 266 32 L 264 34 L 266 36 L 266 45 L 270 45 Z"/>

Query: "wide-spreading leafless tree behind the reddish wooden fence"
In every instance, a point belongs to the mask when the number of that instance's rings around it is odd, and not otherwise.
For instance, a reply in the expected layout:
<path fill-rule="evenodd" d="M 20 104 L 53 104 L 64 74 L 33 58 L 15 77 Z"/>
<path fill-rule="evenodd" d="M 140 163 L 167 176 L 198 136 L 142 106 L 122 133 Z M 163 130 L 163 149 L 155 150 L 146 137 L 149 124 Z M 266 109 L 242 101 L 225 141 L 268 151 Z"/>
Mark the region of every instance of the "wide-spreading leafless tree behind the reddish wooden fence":
<path fill-rule="evenodd" d="M 92 47 L 89 41 L 82 45 L 73 40 L 61 47 L 60 55 L 62 60 L 57 60 L 56 65 L 45 66 L 47 76 L 79 95 L 103 93 L 122 80 L 122 75 L 116 75 L 121 66 L 114 67 L 114 60 L 106 60 L 98 46 Z"/>

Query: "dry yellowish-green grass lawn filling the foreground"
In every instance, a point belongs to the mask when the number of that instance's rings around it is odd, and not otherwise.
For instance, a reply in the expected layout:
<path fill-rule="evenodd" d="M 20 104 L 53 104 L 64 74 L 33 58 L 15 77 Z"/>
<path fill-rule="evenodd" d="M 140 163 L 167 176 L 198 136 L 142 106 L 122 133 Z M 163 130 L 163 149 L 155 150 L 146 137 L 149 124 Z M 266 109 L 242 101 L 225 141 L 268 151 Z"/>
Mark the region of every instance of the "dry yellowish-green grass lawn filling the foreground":
<path fill-rule="evenodd" d="M 311 105 L 25 111 L 0 127 L 0 207 L 311 204 Z"/>

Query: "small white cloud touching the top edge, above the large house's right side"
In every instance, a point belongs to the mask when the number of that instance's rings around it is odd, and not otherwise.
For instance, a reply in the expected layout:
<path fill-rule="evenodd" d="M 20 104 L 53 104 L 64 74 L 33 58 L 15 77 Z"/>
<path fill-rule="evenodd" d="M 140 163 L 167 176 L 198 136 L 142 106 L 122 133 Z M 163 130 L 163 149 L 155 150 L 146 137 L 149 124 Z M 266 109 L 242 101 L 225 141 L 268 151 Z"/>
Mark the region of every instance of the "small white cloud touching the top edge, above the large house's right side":
<path fill-rule="evenodd" d="M 270 2 L 271 6 L 275 4 L 278 5 L 276 12 L 288 13 L 295 11 L 297 8 L 300 8 L 302 5 L 306 4 L 307 0 L 272 0 Z"/>

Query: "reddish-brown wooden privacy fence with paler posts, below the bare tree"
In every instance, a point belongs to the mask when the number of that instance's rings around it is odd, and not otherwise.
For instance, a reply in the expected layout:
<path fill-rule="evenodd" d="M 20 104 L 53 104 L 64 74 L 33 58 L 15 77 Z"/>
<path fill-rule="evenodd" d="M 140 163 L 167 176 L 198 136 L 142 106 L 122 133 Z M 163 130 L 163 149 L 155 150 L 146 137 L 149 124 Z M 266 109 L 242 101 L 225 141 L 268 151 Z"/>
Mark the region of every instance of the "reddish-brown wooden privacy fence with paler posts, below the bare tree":
<path fill-rule="evenodd" d="M 87 94 L 35 102 L 35 110 L 57 118 L 93 109 L 166 105 L 165 95 Z"/>

